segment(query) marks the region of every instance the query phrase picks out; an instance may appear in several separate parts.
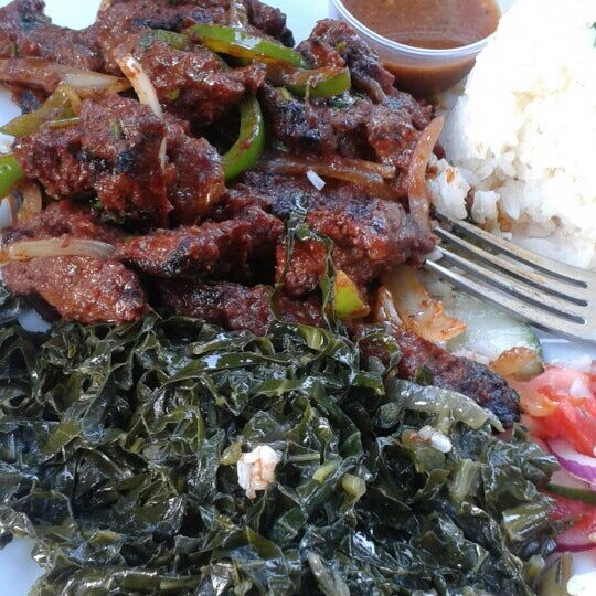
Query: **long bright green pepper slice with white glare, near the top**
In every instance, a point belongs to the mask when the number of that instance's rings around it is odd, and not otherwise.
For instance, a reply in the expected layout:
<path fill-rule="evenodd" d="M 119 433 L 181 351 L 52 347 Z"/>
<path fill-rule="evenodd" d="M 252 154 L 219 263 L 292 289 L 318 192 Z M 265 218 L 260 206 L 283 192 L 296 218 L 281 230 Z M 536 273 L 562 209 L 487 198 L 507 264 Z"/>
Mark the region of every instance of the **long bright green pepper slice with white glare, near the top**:
<path fill-rule="evenodd" d="M 288 64 L 296 68 L 308 68 L 308 63 L 300 52 L 265 38 L 258 38 L 242 29 L 198 23 L 184 30 L 184 33 L 221 54 L 257 62 Z"/>

